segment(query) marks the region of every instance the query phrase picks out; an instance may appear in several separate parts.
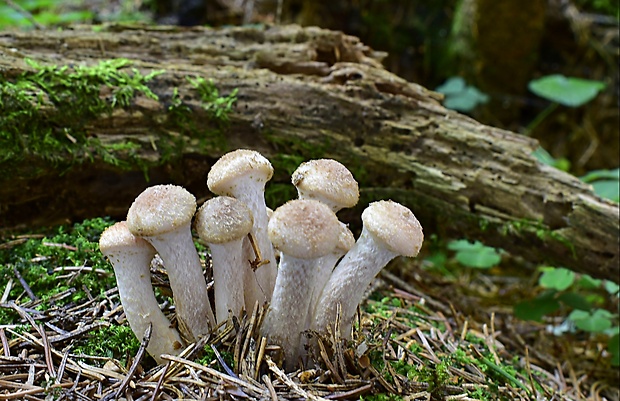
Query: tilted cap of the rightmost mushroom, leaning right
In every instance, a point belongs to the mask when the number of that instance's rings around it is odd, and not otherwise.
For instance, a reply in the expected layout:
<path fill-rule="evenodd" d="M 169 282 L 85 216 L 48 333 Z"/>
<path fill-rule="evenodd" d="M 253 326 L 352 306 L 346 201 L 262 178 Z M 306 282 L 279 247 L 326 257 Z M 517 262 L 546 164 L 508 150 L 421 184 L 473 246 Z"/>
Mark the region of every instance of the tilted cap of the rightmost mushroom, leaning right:
<path fill-rule="evenodd" d="M 371 203 L 362 213 L 364 228 L 391 252 L 416 256 L 422 248 L 422 226 L 405 206 L 388 201 Z"/>

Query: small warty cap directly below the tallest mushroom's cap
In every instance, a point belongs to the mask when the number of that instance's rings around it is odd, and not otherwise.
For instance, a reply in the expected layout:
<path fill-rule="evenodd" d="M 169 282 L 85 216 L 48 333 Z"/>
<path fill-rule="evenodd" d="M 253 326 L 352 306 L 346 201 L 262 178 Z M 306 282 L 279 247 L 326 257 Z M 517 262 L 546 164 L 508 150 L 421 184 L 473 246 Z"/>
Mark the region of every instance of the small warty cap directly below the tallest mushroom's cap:
<path fill-rule="evenodd" d="M 223 244 L 243 238 L 252 231 L 254 218 L 245 203 L 228 196 L 206 201 L 196 212 L 194 227 L 210 244 Z"/>

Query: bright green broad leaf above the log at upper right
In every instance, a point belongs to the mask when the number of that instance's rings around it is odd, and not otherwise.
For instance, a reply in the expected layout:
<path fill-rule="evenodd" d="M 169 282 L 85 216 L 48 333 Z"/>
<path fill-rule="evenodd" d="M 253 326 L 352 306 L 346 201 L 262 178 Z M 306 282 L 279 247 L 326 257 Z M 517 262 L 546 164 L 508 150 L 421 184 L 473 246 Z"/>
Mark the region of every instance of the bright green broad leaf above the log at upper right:
<path fill-rule="evenodd" d="M 569 107 L 579 107 L 605 89 L 605 83 L 554 74 L 530 81 L 528 88 L 536 95 Z"/>

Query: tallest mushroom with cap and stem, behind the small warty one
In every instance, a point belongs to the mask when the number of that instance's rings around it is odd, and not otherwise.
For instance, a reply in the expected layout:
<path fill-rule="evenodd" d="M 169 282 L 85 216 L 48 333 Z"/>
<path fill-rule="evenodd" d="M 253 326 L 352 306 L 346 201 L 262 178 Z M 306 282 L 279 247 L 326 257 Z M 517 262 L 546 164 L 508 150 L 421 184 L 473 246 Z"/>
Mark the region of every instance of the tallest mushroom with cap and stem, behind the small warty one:
<path fill-rule="evenodd" d="M 273 247 L 267 236 L 269 218 L 265 205 L 265 183 L 272 175 L 273 167 L 269 160 L 256 151 L 239 149 L 222 156 L 207 176 L 207 186 L 213 193 L 242 201 L 254 216 L 251 234 L 260 250 L 263 264 L 252 266 L 249 272 L 251 280 L 245 288 L 246 310 L 252 310 L 257 301 L 261 304 L 268 302 L 276 280 L 277 267 Z M 249 242 L 245 243 L 244 248 L 247 258 L 254 260 L 255 255 Z"/>

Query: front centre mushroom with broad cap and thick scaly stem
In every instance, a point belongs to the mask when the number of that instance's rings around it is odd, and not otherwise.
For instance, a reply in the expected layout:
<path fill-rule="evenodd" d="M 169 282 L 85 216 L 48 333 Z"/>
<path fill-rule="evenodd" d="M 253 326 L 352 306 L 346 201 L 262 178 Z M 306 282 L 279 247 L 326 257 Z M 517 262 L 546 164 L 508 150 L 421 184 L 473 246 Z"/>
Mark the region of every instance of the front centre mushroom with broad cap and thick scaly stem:
<path fill-rule="evenodd" d="M 325 204 L 292 200 L 277 208 L 269 220 L 269 238 L 281 252 L 280 267 L 263 334 L 282 347 L 286 367 L 299 358 L 318 260 L 333 252 L 340 224 Z"/>

